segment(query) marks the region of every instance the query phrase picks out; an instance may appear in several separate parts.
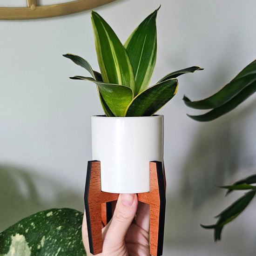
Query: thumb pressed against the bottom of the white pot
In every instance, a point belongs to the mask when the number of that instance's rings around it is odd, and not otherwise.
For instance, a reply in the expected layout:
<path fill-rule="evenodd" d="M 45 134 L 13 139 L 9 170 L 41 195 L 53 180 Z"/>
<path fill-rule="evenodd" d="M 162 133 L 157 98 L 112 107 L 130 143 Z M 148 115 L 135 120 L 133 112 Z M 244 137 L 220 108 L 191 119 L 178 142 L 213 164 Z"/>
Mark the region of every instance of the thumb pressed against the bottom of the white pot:
<path fill-rule="evenodd" d="M 115 206 L 115 212 L 109 223 L 104 243 L 121 245 L 135 217 L 138 207 L 136 194 L 120 194 Z"/>

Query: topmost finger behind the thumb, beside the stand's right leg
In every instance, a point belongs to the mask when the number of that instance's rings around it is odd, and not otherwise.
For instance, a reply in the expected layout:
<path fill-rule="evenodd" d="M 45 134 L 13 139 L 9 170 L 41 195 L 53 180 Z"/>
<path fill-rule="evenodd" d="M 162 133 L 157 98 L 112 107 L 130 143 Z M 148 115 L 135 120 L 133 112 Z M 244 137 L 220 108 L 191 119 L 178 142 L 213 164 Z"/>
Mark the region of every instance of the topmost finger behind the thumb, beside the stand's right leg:
<path fill-rule="evenodd" d="M 138 202 L 135 224 L 146 232 L 149 231 L 149 204 Z"/>

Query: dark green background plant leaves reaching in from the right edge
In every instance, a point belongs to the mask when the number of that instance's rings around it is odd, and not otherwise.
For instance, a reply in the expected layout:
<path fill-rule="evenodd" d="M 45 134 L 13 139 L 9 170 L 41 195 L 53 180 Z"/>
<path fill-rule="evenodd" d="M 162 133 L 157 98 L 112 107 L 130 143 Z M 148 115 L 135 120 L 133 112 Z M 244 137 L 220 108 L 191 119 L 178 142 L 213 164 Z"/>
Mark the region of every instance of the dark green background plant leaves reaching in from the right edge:
<path fill-rule="evenodd" d="M 256 60 L 245 67 L 232 81 L 216 94 L 201 101 L 190 101 L 189 98 L 184 95 L 183 101 L 190 108 L 212 109 L 203 115 L 189 115 L 190 118 L 196 121 L 211 121 L 236 108 L 255 91 Z M 249 205 L 249 202 L 254 198 L 256 194 L 256 186 L 251 185 L 254 183 L 256 183 L 256 175 L 244 178 L 243 180 L 235 182 L 233 185 L 222 186 L 223 189 L 228 189 L 227 195 L 233 190 L 249 190 L 249 192 L 217 215 L 216 217 L 219 219 L 216 224 L 209 226 L 201 224 L 205 229 L 214 229 L 215 241 L 221 240 L 221 233 L 224 225 L 241 214 Z"/>

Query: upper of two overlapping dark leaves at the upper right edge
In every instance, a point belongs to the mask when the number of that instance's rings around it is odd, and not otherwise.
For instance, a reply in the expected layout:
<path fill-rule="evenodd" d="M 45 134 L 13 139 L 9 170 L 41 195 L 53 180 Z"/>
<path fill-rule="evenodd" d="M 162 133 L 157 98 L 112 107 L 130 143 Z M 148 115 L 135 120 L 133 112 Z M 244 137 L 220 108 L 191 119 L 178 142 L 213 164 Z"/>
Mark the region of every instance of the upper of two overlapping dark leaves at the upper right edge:
<path fill-rule="evenodd" d="M 216 94 L 201 101 L 190 101 L 184 96 L 184 103 L 196 109 L 218 108 L 238 95 L 242 90 L 256 81 L 256 60 L 245 67 L 232 81 L 225 85 Z"/>

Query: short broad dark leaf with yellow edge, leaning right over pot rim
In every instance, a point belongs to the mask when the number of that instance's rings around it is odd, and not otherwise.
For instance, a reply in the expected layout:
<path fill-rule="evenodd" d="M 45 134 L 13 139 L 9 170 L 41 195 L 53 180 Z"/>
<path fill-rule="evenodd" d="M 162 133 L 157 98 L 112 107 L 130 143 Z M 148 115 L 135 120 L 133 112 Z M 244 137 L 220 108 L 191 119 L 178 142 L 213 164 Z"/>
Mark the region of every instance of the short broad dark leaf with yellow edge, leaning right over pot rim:
<path fill-rule="evenodd" d="M 138 94 L 126 110 L 126 116 L 150 116 L 162 108 L 175 94 L 178 80 L 173 78 L 149 87 Z"/>

